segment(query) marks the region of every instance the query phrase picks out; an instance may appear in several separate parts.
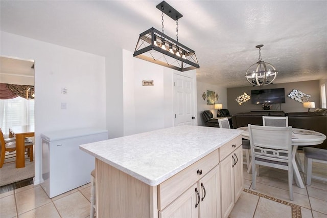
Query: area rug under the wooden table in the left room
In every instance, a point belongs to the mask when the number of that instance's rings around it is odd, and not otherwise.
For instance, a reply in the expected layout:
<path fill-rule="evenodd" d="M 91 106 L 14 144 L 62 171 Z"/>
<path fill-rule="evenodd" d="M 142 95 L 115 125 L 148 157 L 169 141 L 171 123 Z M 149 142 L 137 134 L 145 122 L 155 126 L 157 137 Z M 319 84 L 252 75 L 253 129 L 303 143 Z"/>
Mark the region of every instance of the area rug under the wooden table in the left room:
<path fill-rule="evenodd" d="M 25 179 L 33 178 L 35 167 L 34 161 L 25 160 L 24 168 L 16 168 L 15 158 L 8 158 L 2 168 L 0 168 L 0 186 L 8 185 Z"/>

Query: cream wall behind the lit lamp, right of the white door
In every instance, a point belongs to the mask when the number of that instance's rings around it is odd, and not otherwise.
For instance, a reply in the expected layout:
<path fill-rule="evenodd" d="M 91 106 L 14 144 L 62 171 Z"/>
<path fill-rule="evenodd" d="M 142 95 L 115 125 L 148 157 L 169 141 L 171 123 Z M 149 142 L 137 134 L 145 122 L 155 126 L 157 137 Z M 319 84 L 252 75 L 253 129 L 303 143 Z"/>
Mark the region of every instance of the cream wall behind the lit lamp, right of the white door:
<path fill-rule="evenodd" d="M 210 110 L 213 113 L 214 117 L 217 117 L 217 110 L 214 109 L 214 105 L 206 104 L 206 98 L 205 98 L 205 100 L 203 100 L 203 98 L 202 98 L 203 92 L 205 92 L 205 94 L 206 94 L 207 90 L 218 93 L 218 96 L 219 96 L 218 103 L 223 104 L 223 108 L 228 109 L 227 89 L 226 88 L 198 81 L 197 82 L 197 101 L 198 101 L 198 125 L 199 126 L 204 126 L 204 122 L 201 117 L 201 113 L 203 111 Z"/>

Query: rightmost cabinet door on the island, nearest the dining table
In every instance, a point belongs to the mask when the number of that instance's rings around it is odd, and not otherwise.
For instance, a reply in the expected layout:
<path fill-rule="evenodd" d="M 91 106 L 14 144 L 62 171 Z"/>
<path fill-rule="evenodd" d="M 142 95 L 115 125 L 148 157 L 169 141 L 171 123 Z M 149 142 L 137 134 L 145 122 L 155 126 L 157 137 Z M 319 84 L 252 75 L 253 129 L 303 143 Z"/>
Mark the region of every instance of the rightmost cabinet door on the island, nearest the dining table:
<path fill-rule="evenodd" d="M 234 171 L 234 187 L 235 187 L 235 203 L 240 198 L 243 191 L 243 149 L 240 146 L 234 152 L 232 152 L 237 163 L 233 167 Z"/>

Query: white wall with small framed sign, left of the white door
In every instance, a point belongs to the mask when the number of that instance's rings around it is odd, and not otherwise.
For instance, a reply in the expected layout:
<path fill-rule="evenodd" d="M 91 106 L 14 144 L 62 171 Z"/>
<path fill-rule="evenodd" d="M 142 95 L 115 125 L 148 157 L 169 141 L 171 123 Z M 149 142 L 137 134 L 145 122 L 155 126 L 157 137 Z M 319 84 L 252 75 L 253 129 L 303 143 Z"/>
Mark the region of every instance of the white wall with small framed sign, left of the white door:
<path fill-rule="evenodd" d="M 171 127 L 173 118 L 173 74 L 175 70 L 133 57 L 123 50 L 124 136 Z M 196 72 L 180 74 L 196 77 Z M 153 86 L 143 86 L 153 80 Z M 194 86 L 195 87 L 195 86 Z"/>

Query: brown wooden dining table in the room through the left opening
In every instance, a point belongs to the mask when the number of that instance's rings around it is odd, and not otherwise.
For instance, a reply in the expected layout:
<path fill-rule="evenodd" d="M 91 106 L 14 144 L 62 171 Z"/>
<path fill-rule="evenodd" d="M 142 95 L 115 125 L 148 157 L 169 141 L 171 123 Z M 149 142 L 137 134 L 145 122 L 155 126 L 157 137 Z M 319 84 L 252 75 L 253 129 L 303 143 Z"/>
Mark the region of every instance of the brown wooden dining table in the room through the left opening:
<path fill-rule="evenodd" d="M 9 136 L 16 138 L 16 168 L 25 167 L 25 138 L 34 136 L 34 125 L 12 126 Z"/>

